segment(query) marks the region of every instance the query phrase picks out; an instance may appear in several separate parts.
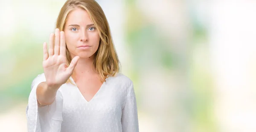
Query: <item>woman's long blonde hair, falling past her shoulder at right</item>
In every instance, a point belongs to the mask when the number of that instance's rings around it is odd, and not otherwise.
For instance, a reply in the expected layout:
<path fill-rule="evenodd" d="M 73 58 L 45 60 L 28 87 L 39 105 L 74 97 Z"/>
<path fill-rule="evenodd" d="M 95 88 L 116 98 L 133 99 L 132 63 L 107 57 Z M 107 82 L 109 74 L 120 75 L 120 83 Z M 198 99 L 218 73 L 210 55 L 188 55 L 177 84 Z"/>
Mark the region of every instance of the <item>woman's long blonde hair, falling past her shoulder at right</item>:
<path fill-rule="evenodd" d="M 99 74 L 101 80 L 106 81 L 108 76 L 115 76 L 116 73 L 119 72 L 119 59 L 113 45 L 108 20 L 99 4 L 95 0 L 67 0 L 62 6 L 58 15 L 56 28 L 60 29 L 60 31 L 63 31 L 68 14 L 77 8 L 87 11 L 99 32 L 99 48 L 95 53 L 93 66 L 96 68 L 96 72 Z M 67 46 L 66 58 L 67 66 L 69 66 L 72 58 L 70 56 L 70 52 L 67 49 Z M 67 80 L 67 83 L 68 82 L 72 83 L 70 79 Z"/>

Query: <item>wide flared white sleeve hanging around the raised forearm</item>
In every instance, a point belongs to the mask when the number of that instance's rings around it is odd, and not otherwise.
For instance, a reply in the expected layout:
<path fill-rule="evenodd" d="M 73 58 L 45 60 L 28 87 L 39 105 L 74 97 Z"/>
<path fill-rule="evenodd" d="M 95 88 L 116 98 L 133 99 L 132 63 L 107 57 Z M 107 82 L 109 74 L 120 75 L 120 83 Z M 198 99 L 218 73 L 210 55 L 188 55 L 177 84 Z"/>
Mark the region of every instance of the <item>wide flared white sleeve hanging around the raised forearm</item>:
<path fill-rule="evenodd" d="M 39 83 L 46 81 L 44 73 L 32 81 L 29 101 L 26 107 L 28 132 L 61 132 L 63 98 L 58 90 L 51 105 L 38 107 L 36 88 Z"/>

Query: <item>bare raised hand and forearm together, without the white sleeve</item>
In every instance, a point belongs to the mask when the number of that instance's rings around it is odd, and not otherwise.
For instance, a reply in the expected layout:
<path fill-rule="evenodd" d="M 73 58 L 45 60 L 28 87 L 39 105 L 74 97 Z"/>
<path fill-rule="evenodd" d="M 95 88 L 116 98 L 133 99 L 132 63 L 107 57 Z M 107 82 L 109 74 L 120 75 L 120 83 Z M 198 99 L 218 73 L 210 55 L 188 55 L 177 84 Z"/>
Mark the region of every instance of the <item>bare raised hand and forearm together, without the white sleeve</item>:
<path fill-rule="evenodd" d="M 55 41 L 55 42 L 54 42 Z M 55 34 L 50 34 L 49 52 L 47 43 L 43 44 L 43 69 L 45 80 L 36 87 L 38 106 L 50 105 L 54 102 L 60 86 L 67 82 L 78 62 L 79 56 L 74 57 L 67 67 L 66 41 L 64 32 L 55 29 Z"/>

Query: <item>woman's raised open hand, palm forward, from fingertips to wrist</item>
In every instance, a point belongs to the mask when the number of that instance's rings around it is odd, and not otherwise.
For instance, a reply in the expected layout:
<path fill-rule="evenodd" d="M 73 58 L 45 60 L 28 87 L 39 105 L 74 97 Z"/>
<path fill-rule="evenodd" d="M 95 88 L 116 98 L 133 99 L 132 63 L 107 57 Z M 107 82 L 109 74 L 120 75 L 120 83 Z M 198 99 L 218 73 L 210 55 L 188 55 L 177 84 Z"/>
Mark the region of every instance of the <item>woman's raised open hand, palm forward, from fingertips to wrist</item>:
<path fill-rule="evenodd" d="M 55 42 L 54 41 L 55 37 Z M 50 34 L 49 53 L 47 43 L 44 42 L 43 68 L 46 83 L 49 87 L 59 88 L 66 83 L 72 75 L 73 70 L 79 60 L 79 56 L 72 59 L 70 66 L 66 65 L 66 41 L 64 32 L 55 29 L 55 34 Z"/>

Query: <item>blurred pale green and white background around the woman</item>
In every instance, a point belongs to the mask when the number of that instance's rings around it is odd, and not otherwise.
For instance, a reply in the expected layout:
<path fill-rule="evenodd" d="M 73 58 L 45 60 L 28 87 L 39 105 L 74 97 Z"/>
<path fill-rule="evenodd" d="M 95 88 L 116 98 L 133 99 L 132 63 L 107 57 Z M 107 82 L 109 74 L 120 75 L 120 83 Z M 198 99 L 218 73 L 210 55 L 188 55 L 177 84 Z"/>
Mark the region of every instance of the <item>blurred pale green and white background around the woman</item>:
<path fill-rule="evenodd" d="M 256 1 L 96 1 L 134 81 L 140 132 L 256 131 Z M 30 85 L 64 2 L 0 0 L 0 132 L 27 131 Z"/>

